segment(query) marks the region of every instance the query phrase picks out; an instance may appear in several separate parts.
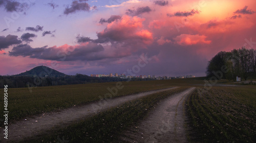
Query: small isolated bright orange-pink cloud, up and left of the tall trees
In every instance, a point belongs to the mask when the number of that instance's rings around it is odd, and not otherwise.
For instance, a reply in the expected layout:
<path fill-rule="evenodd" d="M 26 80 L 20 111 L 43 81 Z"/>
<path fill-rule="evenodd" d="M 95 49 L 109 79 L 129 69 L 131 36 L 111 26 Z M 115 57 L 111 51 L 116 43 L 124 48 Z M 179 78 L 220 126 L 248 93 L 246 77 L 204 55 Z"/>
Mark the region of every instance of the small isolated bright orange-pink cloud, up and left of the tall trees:
<path fill-rule="evenodd" d="M 189 35 L 181 34 L 175 38 L 179 45 L 195 45 L 195 44 L 210 44 L 211 41 L 205 40 L 207 37 L 204 35 Z"/>

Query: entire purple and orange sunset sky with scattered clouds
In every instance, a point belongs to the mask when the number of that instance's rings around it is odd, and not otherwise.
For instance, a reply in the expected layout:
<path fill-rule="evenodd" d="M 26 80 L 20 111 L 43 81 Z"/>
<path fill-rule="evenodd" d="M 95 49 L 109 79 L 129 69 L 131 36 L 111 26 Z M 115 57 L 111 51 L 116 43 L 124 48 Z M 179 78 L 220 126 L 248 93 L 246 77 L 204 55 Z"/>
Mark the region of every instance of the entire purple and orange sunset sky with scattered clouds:
<path fill-rule="evenodd" d="M 205 76 L 219 51 L 256 49 L 256 1 L 0 0 L 0 75 Z M 127 74 L 126 74 L 127 75 Z"/>

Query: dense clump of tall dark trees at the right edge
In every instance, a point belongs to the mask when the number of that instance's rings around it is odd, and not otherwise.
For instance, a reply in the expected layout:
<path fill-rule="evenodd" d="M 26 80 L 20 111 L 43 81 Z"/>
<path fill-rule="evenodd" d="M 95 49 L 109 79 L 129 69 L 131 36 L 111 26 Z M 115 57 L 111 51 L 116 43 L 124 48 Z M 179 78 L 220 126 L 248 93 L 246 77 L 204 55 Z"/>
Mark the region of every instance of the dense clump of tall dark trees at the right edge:
<path fill-rule="evenodd" d="M 217 53 L 207 65 L 207 77 L 217 77 L 236 81 L 236 77 L 247 80 L 255 76 L 256 50 L 245 47 L 230 52 Z M 221 75 L 221 76 L 220 76 Z"/>

